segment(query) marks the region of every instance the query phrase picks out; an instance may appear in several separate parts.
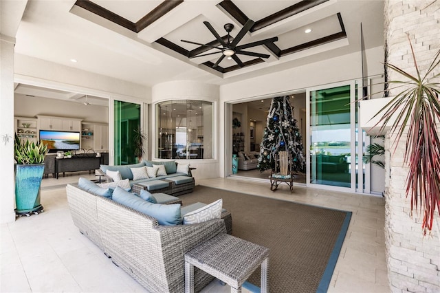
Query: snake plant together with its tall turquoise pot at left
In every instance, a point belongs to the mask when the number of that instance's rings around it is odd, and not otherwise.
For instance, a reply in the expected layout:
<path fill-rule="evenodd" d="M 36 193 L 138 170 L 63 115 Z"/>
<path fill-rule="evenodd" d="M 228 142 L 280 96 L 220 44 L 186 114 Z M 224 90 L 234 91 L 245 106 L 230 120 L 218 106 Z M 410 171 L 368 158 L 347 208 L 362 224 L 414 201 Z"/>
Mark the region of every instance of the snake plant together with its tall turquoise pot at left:
<path fill-rule="evenodd" d="M 42 142 L 21 141 L 15 134 L 14 159 L 15 164 L 15 213 L 19 216 L 29 216 L 43 211 L 40 204 L 40 186 L 44 173 L 44 158 L 47 144 Z"/>

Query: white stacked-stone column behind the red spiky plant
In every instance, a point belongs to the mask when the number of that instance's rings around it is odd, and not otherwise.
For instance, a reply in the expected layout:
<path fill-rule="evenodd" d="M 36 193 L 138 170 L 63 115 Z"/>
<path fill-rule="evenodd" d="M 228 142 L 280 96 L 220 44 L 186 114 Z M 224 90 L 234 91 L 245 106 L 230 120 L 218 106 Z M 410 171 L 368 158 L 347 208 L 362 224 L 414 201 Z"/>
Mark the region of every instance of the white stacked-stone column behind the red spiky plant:
<path fill-rule="evenodd" d="M 387 0 L 384 16 L 387 62 L 416 74 L 408 34 L 419 68 L 425 72 L 440 49 L 440 1 Z M 392 70 L 387 73 L 388 80 L 402 79 Z M 391 90 L 390 96 L 401 90 Z M 440 292 L 439 215 L 432 235 L 423 237 L 421 215 L 413 210 L 411 217 L 410 199 L 406 197 L 406 135 L 399 140 L 397 149 L 395 138 L 391 133 L 386 136 L 385 237 L 391 291 Z"/>

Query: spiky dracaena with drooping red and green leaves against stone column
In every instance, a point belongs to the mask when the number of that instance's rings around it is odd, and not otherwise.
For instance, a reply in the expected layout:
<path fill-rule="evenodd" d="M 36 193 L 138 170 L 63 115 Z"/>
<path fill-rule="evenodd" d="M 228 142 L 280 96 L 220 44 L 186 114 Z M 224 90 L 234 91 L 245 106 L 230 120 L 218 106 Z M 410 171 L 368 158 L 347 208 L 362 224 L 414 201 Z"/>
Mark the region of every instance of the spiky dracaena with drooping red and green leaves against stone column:
<path fill-rule="evenodd" d="M 409 40 L 409 37 L 408 37 Z M 421 74 L 410 42 L 416 75 L 386 63 L 386 67 L 401 74 L 404 80 L 387 81 L 403 91 L 399 92 L 377 114 L 382 115 L 382 130 L 391 125 L 391 133 L 397 133 L 394 147 L 404 131 L 406 151 L 404 161 L 409 166 L 406 178 L 406 196 L 410 197 L 411 213 L 417 210 L 423 216 L 423 235 L 432 230 L 434 215 L 440 206 L 440 50 L 432 63 Z M 389 122 L 389 123 L 388 123 Z"/>

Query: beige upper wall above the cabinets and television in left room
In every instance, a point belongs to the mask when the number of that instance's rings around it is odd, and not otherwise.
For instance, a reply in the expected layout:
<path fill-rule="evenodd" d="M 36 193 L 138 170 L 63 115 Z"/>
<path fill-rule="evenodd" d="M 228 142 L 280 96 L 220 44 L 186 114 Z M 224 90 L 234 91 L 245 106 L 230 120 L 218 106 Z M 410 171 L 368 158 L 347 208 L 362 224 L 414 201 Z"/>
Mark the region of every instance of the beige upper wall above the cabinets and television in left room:
<path fill-rule="evenodd" d="M 87 122 L 109 122 L 109 107 L 84 105 L 81 102 L 14 95 L 14 116 L 36 115 L 80 118 Z"/>

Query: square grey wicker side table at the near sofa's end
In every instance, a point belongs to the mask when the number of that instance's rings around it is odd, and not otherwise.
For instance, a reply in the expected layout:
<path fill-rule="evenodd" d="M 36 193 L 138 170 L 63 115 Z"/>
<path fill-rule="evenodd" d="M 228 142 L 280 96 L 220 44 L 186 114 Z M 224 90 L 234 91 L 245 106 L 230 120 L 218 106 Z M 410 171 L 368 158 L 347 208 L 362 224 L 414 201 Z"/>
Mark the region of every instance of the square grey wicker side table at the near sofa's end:
<path fill-rule="evenodd" d="M 261 265 L 261 292 L 267 292 L 269 248 L 220 234 L 185 254 L 185 292 L 194 292 L 194 267 L 241 292 L 241 285 Z"/>

